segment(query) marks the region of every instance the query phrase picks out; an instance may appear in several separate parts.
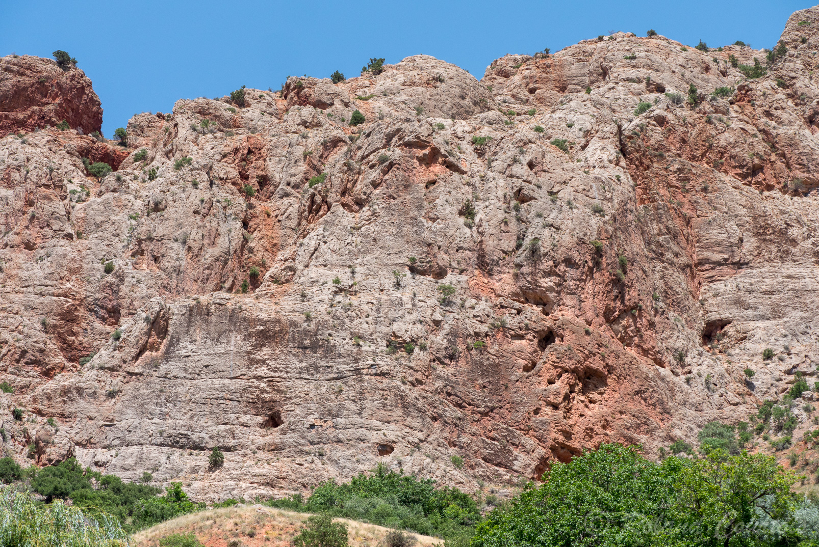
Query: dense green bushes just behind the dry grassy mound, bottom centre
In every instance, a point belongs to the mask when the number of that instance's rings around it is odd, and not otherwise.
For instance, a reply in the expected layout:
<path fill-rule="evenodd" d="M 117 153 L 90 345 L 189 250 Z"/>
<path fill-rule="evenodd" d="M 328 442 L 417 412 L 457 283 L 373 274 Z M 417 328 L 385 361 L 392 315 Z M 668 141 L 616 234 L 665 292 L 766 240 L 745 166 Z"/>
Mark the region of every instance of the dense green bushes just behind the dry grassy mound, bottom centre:
<path fill-rule="evenodd" d="M 449 486 L 436 488 L 432 479 L 388 473 L 383 465 L 351 482 L 324 482 L 305 503 L 294 497 L 268 504 L 445 538 L 471 534 L 481 518 L 470 495 Z"/>

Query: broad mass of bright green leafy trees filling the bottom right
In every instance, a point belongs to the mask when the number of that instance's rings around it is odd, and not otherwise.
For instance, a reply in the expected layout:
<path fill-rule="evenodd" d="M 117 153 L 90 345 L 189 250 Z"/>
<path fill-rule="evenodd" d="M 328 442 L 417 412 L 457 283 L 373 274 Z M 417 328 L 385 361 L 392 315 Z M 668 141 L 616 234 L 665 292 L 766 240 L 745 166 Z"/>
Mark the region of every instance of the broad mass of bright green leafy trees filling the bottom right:
<path fill-rule="evenodd" d="M 634 446 L 604 444 L 554 464 L 543 479 L 489 513 L 472 547 L 772 547 L 812 539 L 793 520 L 796 475 L 769 455 L 715 450 L 656 464 Z"/>

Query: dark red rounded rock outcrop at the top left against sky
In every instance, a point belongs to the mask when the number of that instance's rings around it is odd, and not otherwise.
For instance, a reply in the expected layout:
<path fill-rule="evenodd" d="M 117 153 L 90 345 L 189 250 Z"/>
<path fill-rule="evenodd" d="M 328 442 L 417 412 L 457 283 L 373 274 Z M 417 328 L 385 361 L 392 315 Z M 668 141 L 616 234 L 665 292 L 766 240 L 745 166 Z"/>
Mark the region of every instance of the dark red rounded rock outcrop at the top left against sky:
<path fill-rule="evenodd" d="M 100 100 L 85 73 L 51 59 L 0 57 L 0 137 L 63 120 L 86 134 L 102 129 Z"/>

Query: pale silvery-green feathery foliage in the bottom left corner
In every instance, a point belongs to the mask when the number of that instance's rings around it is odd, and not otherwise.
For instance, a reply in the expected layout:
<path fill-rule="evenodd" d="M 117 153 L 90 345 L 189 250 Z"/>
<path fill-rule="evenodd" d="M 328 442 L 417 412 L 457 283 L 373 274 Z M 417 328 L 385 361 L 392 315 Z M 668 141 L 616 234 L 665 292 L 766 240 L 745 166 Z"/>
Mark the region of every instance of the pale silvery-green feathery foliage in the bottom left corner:
<path fill-rule="evenodd" d="M 0 545 L 7 547 L 115 547 L 128 536 L 115 518 L 97 513 L 89 519 L 79 507 L 62 501 L 35 502 L 28 492 L 5 486 L 0 491 Z"/>

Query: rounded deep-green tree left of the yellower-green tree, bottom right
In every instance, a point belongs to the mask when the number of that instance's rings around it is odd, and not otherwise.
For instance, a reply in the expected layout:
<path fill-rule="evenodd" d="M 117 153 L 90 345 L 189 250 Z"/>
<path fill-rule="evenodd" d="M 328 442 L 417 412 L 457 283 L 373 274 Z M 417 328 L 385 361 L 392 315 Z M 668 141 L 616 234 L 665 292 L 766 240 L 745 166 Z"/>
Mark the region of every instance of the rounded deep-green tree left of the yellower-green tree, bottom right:
<path fill-rule="evenodd" d="M 667 524 L 681 460 L 646 460 L 636 447 L 601 445 L 568 464 L 552 466 L 508 506 L 477 526 L 473 547 L 653 545 L 654 525 Z"/>

